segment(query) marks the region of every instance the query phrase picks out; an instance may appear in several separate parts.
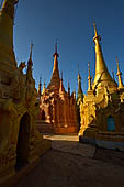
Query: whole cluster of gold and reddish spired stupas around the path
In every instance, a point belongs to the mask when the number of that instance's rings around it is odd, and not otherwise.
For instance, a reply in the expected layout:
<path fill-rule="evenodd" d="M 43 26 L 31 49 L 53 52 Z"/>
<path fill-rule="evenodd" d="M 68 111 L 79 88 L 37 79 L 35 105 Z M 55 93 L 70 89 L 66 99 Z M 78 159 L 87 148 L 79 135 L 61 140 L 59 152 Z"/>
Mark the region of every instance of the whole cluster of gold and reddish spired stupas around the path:
<path fill-rule="evenodd" d="M 88 76 L 83 94 L 78 74 L 78 96 L 66 91 L 59 76 L 57 44 L 50 82 L 38 91 L 32 75 L 32 45 L 27 65 L 18 66 L 13 50 L 13 22 L 18 0 L 4 0 L 0 11 L 0 185 L 16 169 L 37 162 L 50 147 L 40 132 L 78 133 L 79 141 L 124 151 L 124 85 L 117 64 L 116 82 L 105 65 L 94 26 L 95 76 Z M 26 73 L 23 69 L 26 68 Z M 79 128 L 80 127 L 80 128 Z M 37 131 L 37 130 L 40 131 Z"/>

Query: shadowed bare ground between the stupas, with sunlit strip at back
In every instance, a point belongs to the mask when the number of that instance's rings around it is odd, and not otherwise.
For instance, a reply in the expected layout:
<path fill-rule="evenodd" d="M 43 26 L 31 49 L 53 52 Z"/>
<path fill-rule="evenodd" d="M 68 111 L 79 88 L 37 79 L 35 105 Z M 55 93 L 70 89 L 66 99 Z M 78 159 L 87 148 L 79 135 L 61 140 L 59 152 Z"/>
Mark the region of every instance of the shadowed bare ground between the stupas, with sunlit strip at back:
<path fill-rule="evenodd" d="M 81 144 L 76 135 L 45 139 L 52 150 L 14 187 L 124 187 L 124 153 Z"/>

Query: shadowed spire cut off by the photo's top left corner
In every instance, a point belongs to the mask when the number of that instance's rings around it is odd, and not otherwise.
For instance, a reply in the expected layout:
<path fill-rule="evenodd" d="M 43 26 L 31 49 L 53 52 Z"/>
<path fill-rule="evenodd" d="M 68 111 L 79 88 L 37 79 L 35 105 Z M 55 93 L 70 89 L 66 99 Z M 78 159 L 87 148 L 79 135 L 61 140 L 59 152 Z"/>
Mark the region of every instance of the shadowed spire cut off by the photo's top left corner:
<path fill-rule="evenodd" d="M 12 68 L 16 66 L 13 52 L 13 20 L 16 3 L 18 0 L 4 0 L 0 10 L 0 61 Z"/>

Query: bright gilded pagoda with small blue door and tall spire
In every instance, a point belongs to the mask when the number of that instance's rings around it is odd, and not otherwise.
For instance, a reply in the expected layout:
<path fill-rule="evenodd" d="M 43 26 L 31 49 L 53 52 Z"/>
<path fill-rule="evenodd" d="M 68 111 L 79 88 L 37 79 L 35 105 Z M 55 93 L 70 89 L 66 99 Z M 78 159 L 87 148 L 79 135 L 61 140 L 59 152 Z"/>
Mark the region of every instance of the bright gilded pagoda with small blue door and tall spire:
<path fill-rule="evenodd" d="M 101 147 L 124 151 L 124 85 L 117 64 L 119 84 L 111 77 L 105 65 L 100 35 L 94 26 L 95 76 L 88 76 L 88 91 L 80 102 L 81 127 L 79 141 Z"/>

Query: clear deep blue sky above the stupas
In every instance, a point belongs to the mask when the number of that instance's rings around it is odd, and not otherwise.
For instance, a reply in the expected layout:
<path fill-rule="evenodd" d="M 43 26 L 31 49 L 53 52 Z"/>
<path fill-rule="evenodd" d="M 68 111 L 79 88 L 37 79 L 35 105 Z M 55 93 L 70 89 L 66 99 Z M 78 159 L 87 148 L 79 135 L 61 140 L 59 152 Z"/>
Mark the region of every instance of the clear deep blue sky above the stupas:
<path fill-rule="evenodd" d="M 53 53 L 58 40 L 59 70 L 64 86 L 68 79 L 77 90 L 78 64 L 84 94 L 88 87 L 88 62 L 94 76 L 93 21 L 101 35 L 109 72 L 116 78 L 115 56 L 124 77 L 124 0 L 19 0 L 14 25 L 14 51 L 18 62 L 27 61 L 33 41 L 33 74 L 48 84 Z"/>

